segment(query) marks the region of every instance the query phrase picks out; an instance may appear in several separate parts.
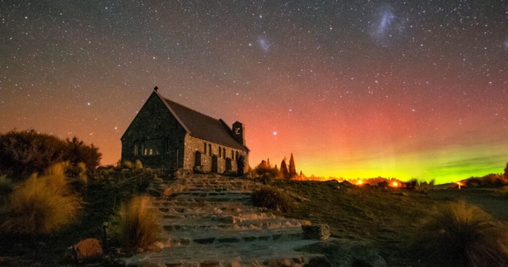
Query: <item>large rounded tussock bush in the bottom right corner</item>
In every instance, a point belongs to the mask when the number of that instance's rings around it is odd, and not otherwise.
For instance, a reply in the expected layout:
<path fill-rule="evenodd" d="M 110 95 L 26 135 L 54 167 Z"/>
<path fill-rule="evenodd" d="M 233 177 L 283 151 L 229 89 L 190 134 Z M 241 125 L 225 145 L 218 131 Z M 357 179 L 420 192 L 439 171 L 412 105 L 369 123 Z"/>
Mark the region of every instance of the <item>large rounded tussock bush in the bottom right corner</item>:
<path fill-rule="evenodd" d="M 436 209 L 420 228 L 415 248 L 426 261 L 438 265 L 508 264 L 508 235 L 503 225 L 463 201 Z"/>

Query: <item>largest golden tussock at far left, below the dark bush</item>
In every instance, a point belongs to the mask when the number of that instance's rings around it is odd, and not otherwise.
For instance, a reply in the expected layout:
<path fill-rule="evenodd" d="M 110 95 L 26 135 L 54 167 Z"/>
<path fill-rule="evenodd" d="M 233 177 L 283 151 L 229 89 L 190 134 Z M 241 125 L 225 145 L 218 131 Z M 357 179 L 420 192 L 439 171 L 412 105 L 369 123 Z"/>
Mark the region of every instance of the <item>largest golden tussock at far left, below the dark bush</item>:
<path fill-rule="evenodd" d="M 32 175 L 15 188 L 7 203 L 0 232 L 10 235 L 49 235 L 70 224 L 81 209 L 81 200 L 70 190 L 66 165 L 50 166 L 44 176 Z"/>

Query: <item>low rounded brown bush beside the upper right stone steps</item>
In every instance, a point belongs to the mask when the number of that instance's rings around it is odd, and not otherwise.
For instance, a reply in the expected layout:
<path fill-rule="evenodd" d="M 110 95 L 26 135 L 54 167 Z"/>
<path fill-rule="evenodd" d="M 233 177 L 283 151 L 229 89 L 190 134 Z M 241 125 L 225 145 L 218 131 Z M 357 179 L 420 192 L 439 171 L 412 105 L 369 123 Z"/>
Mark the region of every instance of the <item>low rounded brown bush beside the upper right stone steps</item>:
<path fill-rule="evenodd" d="M 252 203 L 256 207 L 282 212 L 289 212 L 294 208 L 291 196 L 271 186 L 263 186 L 252 192 Z"/>

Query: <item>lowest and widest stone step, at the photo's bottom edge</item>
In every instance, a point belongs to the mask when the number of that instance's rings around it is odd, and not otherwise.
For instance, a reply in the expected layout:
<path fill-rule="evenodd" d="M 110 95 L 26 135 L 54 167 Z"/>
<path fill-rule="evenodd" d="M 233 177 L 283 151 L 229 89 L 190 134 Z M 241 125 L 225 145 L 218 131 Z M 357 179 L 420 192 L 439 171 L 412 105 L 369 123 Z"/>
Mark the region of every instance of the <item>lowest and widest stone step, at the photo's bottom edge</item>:
<path fill-rule="evenodd" d="M 312 240 L 256 240 L 253 242 L 175 246 L 159 252 L 145 252 L 122 259 L 123 265 L 171 267 L 220 266 L 303 266 L 322 255 L 296 252 L 294 248 L 315 243 Z"/>

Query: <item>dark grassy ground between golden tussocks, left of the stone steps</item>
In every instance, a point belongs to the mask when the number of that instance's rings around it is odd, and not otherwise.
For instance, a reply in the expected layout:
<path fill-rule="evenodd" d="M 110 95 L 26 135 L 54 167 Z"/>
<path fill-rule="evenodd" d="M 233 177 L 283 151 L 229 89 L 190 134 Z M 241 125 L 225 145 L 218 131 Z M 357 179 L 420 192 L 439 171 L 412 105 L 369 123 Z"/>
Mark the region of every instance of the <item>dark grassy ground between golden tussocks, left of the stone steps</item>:
<path fill-rule="evenodd" d="M 143 183 L 140 183 L 140 176 Z M 116 172 L 97 180 L 90 179 L 87 189 L 81 192 L 85 204 L 78 221 L 52 236 L 0 237 L 0 265 L 21 266 L 37 262 L 58 265 L 68 247 L 86 238 L 101 240 L 103 222 L 111 221 L 121 202 L 143 192 L 151 177 L 150 173 Z"/>

